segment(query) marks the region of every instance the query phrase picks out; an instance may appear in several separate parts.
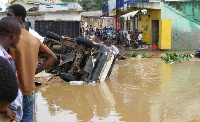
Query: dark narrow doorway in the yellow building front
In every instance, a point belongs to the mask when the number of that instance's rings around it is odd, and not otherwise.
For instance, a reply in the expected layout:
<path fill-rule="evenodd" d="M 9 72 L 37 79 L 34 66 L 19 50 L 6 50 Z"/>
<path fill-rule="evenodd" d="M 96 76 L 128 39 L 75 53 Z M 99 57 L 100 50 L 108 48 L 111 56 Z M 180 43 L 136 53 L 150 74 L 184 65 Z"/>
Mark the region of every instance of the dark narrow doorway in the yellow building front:
<path fill-rule="evenodd" d="M 152 45 L 158 45 L 159 42 L 159 20 L 152 20 Z"/>

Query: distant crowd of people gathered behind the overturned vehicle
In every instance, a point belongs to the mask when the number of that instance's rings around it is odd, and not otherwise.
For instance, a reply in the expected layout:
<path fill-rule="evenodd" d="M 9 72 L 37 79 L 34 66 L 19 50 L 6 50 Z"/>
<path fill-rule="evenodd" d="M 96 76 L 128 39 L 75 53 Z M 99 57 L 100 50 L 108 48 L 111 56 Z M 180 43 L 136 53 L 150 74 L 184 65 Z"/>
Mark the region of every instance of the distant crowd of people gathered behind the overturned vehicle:
<path fill-rule="evenodd" d="M 110 46 L 117 45 L 117 47 L 125 47 L 125 49 L 142 48 L 142 32 L 140 31 L 123 31 L 117 30 L 111 26 L 104 28 L 96 28 L 95 26 L 86 26 L 81 28 L 83 37 L 89 38 L 96 43 L 103 43 Z"/>

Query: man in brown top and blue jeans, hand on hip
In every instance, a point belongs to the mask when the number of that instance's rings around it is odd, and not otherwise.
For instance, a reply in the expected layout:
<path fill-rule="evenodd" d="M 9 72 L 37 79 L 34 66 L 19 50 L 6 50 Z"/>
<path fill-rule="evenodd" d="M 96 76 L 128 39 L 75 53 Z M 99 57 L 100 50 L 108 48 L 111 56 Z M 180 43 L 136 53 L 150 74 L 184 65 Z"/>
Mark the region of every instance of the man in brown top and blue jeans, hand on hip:
<path fill-rule="evenodd" d="M 21 122 L 33 122 L 35 74 L 51 66 L 57 58 L 40 40 L 25 30 L 26 9 L 22 5 L 10 6 L 7 16 L 16 18 L 22 28 L 18 45 L 15 49 L 10 48 L 9 53 L 15 60 L 19 87 L 23 94 L 23 118 Z M 46 58 L 39 67 L 37 67 L 38 56 Z"/>

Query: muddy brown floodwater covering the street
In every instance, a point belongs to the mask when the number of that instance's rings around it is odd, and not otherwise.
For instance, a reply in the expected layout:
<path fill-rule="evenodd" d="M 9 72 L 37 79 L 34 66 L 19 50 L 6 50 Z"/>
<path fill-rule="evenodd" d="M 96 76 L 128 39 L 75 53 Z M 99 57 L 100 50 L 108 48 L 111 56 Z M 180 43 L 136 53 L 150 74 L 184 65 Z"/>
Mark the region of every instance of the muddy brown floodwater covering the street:
<path fill-rule="evenodd" d="M 117 61 L 106 82 L 37 87 L 36 121 L 196 122 L 199 92 L 197 58 L 172 65 L 160 58 Z"/>

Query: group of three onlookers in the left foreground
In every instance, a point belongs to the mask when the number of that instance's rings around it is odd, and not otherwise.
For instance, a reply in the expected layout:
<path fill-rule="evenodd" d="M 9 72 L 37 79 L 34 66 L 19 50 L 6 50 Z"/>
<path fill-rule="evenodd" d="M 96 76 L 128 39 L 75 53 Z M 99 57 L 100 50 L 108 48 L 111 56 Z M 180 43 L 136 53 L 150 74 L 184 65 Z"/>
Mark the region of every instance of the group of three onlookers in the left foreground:
<path fill-rule="evenodd" d="M 26 28 L 26 14 L 14 4 L 0 19 L 0 122 L 33 122 L 35 75 L 57 60 Z M 45 60 L 37 65 L 39 57 Z"/>

